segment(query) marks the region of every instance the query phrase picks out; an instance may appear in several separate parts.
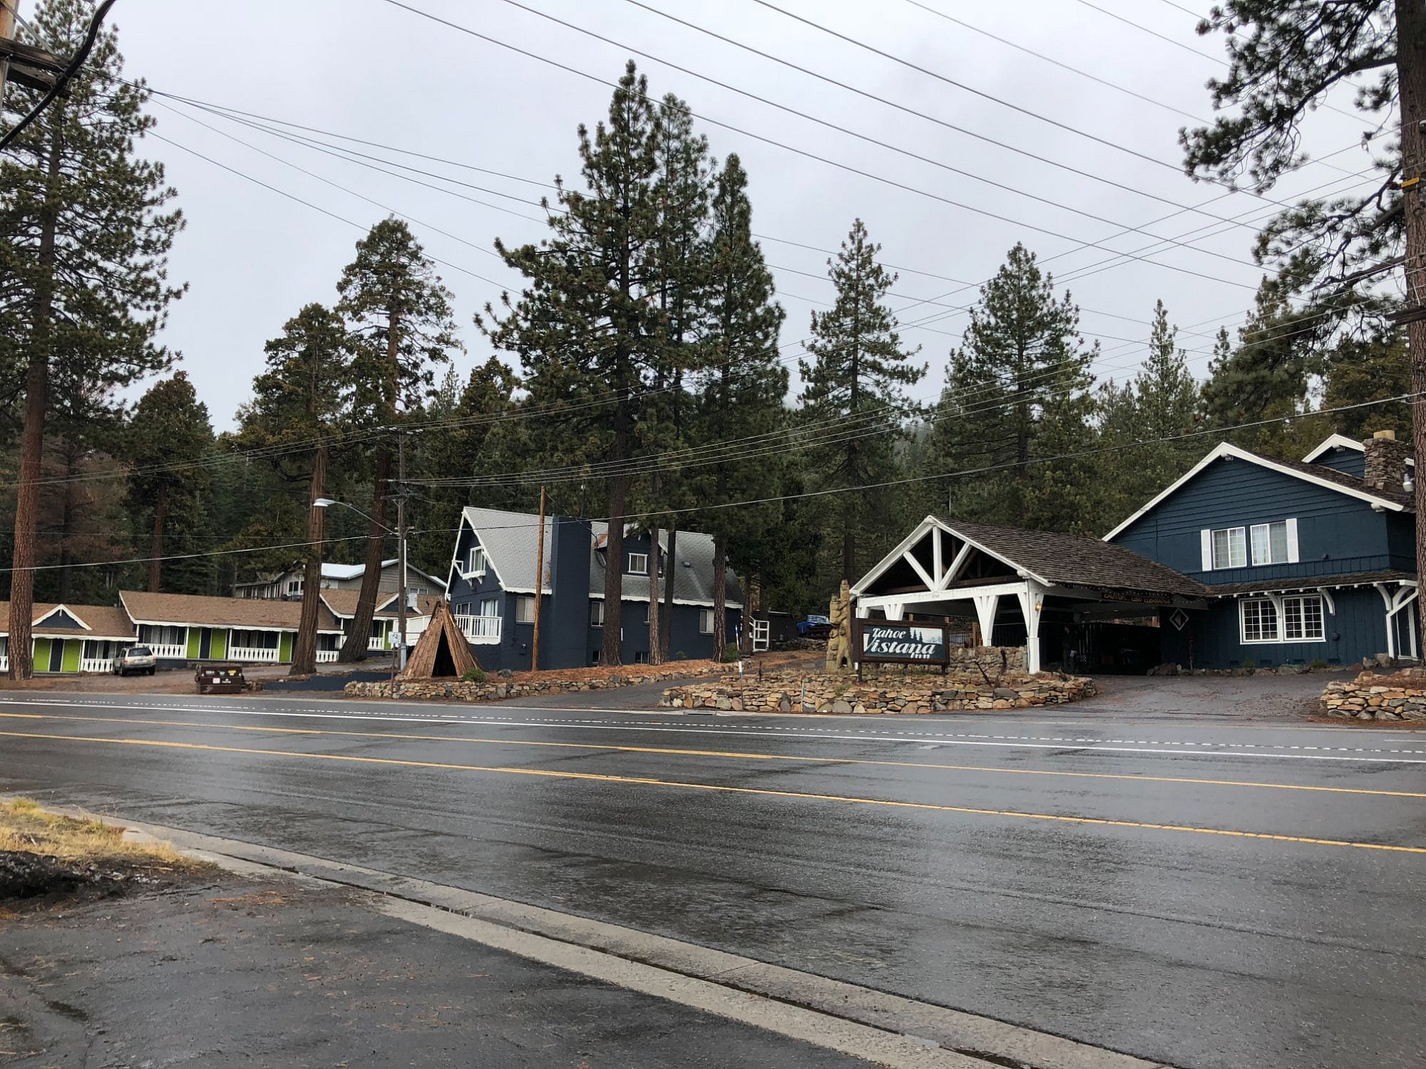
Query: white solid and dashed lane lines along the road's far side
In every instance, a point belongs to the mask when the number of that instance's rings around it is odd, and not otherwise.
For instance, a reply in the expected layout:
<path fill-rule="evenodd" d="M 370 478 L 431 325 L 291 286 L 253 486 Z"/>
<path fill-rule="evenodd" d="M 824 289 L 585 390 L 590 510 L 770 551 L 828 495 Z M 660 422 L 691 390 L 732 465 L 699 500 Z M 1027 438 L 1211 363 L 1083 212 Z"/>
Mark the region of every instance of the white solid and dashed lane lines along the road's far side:
<path fill-rule="evenodd" d="M 0 698 L 0 706 L 26 707 L 84 707 L 108 710 L 167 710 L 174 713 L 231 713 L 244 717 L 309 717 L 318 720 L 368 720 L 386 723 L 424 723 L 424 724 L 472 724 L 486 727 L 563 727 L 573 730 L 595 731 L 677 731 L 684 734 L 703 735 L 742 735 L 744 738 L 824 738 L 837 741 L 861 743 L 924 743 L 935 740 L 941 745 L 983 745 L 983 747 L 1011 747 L 1027 750 L 1088 750 L 1104 753 L 1135 753 L 1135 754 L 1165 754 L 1165 755 L 1204 755 L 1204 757 L 1258 757 L 1258 758 L 1286 758 L 1286 760 L 1319 760 L 1319 761 L 1390 761 L 1402 764 L 1426 764 L 1419 760 L 1426 757 L 1423 748 L 1387 748 L 1387 747 L 1346 747 L 1346 745 L 1308 745 L 1301 743 L 1228 743 L 1228 741 L 1192 741 L 1192 740 L 1162 740 L 1162 738 L 1095 738 L 1091 735 L 1010 735 L 987 734 L 974 731 L 907 731 L 907 730 L 874 730 L 874 728 L 846 728 L 829 731 L 823 727 L 811 725 L 783 725 L 783 724 L 739 724 L 726 727 L 702 727 L 687 720 L 639 720 L 636 723 L 609 723 L 603 718 L 576 717 L 515 717 L 515 716 L 469 716 L 469 714 L 402 714 L 381 708 L 349 708 L 342 707 L 338 713 L 332 706 L 327 707 L 291 707 L 282 710 L 254 708 L 244 703 L 238 706 L 220 706 L 210 703 L 164 703 L 164 701 L 133 701 L 108 703 L 100 700 L 19 700 Z M 627 714 L 625 714 L 627 716 Z"/>

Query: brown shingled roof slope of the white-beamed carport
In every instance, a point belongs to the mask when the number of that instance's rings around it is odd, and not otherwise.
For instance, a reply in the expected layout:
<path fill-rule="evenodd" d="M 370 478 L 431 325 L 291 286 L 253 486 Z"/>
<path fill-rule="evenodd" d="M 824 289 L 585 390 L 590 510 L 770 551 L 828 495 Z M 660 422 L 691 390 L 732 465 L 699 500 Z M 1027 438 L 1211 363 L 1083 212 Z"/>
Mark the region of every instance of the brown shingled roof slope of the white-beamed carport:
<path fill-rule="evenodd" d="M 1047 583 L 1204 597 L 1208 589 L 1112 542 L 988 523 L 941 523 Z"/>

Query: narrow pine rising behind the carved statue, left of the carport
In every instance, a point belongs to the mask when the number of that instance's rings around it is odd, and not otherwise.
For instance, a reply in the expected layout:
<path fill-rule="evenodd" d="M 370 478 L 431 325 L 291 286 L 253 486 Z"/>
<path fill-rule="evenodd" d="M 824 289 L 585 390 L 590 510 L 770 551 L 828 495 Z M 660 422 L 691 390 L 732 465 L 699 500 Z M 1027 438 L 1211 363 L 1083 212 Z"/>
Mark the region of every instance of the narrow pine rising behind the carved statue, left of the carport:
<path fill-rule="evenodd" d="M 901 348 L 896 315 L 883 302 L 896 284 L 876 257 L 880 245 L 867 237 L 861 220 L 827 261 L 837 298 L 827 312 L 811 314 L 811 361 L 799 361 L 803 379 L 803 433 L 821 439 L 807 449 L 821 489 L 844 489 L 833 497 L 836 529 L 841 533 L 841 579 L 856 582 L 857 534 L 880 527 L 886 495 L 853 489 L 888 479 L 896 469 L 894 443 L 906 419 L 915 412 L 906 386 L 925 375 L 911 363 L 918 349 Z"/>

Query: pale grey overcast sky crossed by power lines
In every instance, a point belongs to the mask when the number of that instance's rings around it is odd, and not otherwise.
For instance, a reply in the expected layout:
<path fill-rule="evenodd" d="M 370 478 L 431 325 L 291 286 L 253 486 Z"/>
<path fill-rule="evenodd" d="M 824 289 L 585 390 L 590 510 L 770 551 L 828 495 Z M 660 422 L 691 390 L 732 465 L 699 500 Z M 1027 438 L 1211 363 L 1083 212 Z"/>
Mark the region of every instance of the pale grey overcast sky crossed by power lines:
<path fill-rule="evenodd" d="M 736 151 L 743 158 L 754 231 L 763 235 L 787 309 L 783 352 L 789 363 L 799 353 L 797 341 L 807 335 L 809 312 L 831 298 L 827 251 L 836 249 L 858 215 L 884 247 L 883 261 L 900 268 L 893 306 L 904 309 L 904 339 L 921 345 L 931 365 L 915 391 L 925 399 L 940 392 L 947 353 L 965 328 L 965 312 L 955 309 L 975 298 L 967 284 L 990 277 L 1017 241 L 1048 261 L 1057 279 L 1065 279 L 1057 288 L 1070 286 L 1082 308 L 1084 334 L 1102 346 L 1095 368 L 1101 378 L 1124 378 L 1142 359 L 1155 299 L 1162 298 L 1184 328 L 1181 344 L 1199 375 L 1218 326 L 1241 324 L 1252 301 L 1261 271 L 1251 264 L 1251 224 L 1266 218 L 1273 205 L 1248 194 L 1224 195 L 1179 170 L 1178 128 L 1192 124 L 1189 115 L 1209 114 L 1204 83 L 1224 70 L 1216 58 L 1221 40 L 1196 37 L 1196 20 L 1185 10 L 1206 10 L 1206 0 L 1184 0 L 1182 6 L 1172 0 L 1094 0 L 1094 6 L 1084 0 L 773 0 L 856 43 L 756 0 L 519 3 L 617 44 L 506 0 L 409 0 L 409 6 L 535 57 L 385 0 L 116 4 L 111 21 L 120 30 L 127 73 L 155 90 L 466 165 L 348 143 L 384 161 L 443 175 L 411 174 L 424 187 L 191 107 L 161 107 L 155 97 L 157 133 L 175 144 L 151 138 L 144 151 L 165 162 L 188 220 L 174 245 L 171 274 L 187 281 L 190 291 L 173 306 L 163 341 L 183 353 L 181 366 L 215 426 L 231 426 L 234 410 L 248 396 L 264 341 L 304 304 L 335 299 L 334 286 L 354 242 L 388 210 L 406 218 L 426 251 L 445 261 L 439 269 L 456 295 L 468 348 L 458 366 L 463 371 L 483 361 L 489 344 L 471 326 L 471 316 L 498 298 L 502 286 L 519 285 L 491 252 L 491 242 L 543 235 L 540 211 L 529 201 L 538 201 L 545 192 L 540 182 L 556 174 L 578 180 L 576 127 L 605 114 L 609 87 L 600 81 L 616 80 L 630 57 L 649 76 L 650 93 L 676 93 L 702 117 L 697 128 L 714 154 Z M 21 14 L 33 7 L 34 0 L 23 0 Z M 649 9 L 1011 148 L 827 84 Z M 659 58 L 642 58 L 633 50 Z M 829 130 L 737 90 L 890 147 Z M 1306 147 L 1316 157 L 1335 155 L 1292 175 L 1271 197 L 1286 200 L 1329 182 L 1333 190 L 1362 182 L 1350 177 L 1369 165 L 1363 150 L 1350 148 L 1360 128 L 1346 115 L 1318 113 Z M 1054 162 L 1038 162 L 1017 148 Z M 392 162 L 379 165 L 396 170 Z M 1182 210 L 1198 205 L 1202 211 Z M 1155 238 L 1178 238 L 1192 248 L 1161 248 Z M 1111 252 L 1145 247 L 1155 251 L 1139 259 Z M 1112 265 L 1097 269 L 1105 261 Z"/>

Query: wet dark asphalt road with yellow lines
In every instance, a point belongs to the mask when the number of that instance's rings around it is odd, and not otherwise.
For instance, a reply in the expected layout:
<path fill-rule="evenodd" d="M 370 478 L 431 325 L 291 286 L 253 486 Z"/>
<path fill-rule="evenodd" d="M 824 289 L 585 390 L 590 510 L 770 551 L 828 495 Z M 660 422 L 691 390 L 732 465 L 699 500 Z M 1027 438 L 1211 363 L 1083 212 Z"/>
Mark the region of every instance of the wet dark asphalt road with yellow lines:
<path fill-rule="evenodd" d="M 0 790 L 1182 1066 L 1426 1063 L 1426 733 L 1151 706 L 900 720 L 7 694 Z"/>

